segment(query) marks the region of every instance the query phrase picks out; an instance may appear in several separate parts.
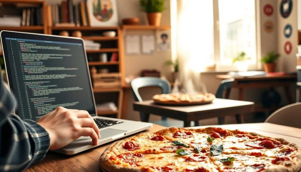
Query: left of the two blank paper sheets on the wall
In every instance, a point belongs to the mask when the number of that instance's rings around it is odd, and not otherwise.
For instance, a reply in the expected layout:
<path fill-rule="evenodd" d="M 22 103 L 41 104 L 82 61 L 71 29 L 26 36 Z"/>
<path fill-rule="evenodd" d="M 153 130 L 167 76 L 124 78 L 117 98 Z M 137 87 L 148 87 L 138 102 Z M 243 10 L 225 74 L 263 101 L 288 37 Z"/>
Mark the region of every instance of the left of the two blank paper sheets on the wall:
<path fill-rule="evenodd" d="M 140 39 L 138 35 L 126 36 L 126 54 L 140 53 Z"/>

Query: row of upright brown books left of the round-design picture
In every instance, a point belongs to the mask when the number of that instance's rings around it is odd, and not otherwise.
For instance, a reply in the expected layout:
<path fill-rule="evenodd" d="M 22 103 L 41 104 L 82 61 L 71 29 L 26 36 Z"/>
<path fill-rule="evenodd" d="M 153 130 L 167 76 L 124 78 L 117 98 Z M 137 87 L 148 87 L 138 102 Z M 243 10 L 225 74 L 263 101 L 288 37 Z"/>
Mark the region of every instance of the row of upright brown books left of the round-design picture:
<path fill-rule="evenodd" d="M 87 1 L 74 5 L 73 0 L 64 0 L 61 4 L 51 5 L 54 26 L 91 26 Z"/>

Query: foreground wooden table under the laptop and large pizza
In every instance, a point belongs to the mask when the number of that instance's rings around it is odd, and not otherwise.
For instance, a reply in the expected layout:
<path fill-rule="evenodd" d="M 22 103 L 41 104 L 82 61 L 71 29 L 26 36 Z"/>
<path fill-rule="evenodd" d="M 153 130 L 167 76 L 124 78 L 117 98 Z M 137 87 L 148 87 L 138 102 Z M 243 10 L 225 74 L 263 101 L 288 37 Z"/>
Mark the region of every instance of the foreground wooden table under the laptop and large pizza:
<path fill-rule="evenodd" d="M 208 126 L 201 126 L 208 127 Z M 294 142 L 301 146 L 301 129 L 294 127 L 287 127 L 282 125 L 270 124 L 270 123 L 253 123 L 253 124 L 231 124 L 231 125 L 219 125 L 215 127 L 222 127 L 225 129 L 239 129 L 248 132 L 256 132 L 258 134 L 270 136 L 270 137 L 282 137 L 289 142 Z M 152 129 L 147 132 L 154 132 L 161 130 L 165 127 L 154 124 Z M 193 127 L 200 128 L 200 127 Z M 76 155 L 67 156 L 54 152 L 48 152 L 46 157 L 31 165 L 26 172 L 44 172 L 44 171 L 85 171 L 85 172 L 97 172 L 101 171 L 98 163 L 98 159 L 102 152 L 109 144 L 100 146 L 95 149 L 91 149 Z"/>

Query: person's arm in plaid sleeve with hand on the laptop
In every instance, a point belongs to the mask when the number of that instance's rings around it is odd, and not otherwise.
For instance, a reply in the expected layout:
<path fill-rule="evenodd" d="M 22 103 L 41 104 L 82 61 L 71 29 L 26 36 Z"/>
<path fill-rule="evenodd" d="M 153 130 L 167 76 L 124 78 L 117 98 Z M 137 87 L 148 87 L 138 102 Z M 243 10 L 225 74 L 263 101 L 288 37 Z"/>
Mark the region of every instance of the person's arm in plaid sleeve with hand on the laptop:
<path fill-rule="evenodd" d="M 94 145 L 99 129 L 87 111 L 58 107 L 37 122 L 11 114 L 16 101 L 0 83 L 0 172 L 22 171 L 43 159 L 48 149 L 64 147 L 80 136 Z"/>

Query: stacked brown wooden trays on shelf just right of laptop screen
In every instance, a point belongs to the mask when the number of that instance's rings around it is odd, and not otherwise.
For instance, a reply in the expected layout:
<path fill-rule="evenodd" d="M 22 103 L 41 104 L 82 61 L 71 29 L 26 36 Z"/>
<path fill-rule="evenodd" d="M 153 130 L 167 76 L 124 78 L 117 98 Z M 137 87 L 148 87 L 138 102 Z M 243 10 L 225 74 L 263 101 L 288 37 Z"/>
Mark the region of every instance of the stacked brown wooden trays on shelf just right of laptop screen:
<path fill-rule="evenodd" d="M 120 73 L 96 73 L 91 77 L 93 88 L 116 88 L 121 86 Z"/>

